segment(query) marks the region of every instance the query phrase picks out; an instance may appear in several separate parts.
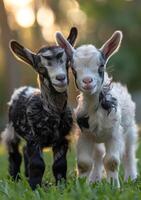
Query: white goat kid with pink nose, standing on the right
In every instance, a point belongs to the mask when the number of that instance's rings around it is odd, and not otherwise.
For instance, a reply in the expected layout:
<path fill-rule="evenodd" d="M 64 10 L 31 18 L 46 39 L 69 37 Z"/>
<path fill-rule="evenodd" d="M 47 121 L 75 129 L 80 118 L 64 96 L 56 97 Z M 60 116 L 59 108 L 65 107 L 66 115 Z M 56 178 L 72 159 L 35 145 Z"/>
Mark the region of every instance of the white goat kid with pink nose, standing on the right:
<path fill-rule="evenodd" d="M 122 32 L 116 31 L 100 48 L 82 45 L 74 49 L 63 35 L 58 44 L 71 58 L 76 86 L 81 91 L 76 117 L 81 134 L 77 143 L 80 176 L 100 181 L 103 164 L 107 180 L 120 187 L 118 170 L 123 161 L 125 180 L 137 178 L 135 104 L 127 88 L 111 82 L 106 72 L 108 59 L 118 51 Z"/>

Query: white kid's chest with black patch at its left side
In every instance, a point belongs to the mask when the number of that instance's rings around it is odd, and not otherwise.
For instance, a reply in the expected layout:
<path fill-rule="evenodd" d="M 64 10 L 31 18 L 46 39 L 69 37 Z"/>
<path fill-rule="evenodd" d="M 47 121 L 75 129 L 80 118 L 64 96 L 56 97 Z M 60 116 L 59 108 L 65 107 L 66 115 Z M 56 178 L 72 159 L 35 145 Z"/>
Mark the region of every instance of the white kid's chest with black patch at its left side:
<path fill-rule="evenodd" d="M 104 142 L 111 137 L 116 119 L 114 111 L 108 115 L 101 107 L 95 112 L 94 109 L 88 109 L 87 117 L 77 119 L 78 124 L 85 134 L 92 134 L 96 142 Z"/>

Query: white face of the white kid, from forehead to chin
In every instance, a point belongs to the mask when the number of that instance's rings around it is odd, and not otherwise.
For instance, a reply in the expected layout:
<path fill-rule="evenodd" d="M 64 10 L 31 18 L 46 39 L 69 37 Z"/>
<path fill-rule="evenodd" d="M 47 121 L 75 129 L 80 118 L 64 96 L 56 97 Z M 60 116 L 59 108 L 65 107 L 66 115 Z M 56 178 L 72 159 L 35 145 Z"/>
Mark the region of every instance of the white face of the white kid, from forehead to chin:
<path fill-rule="evenodd" d="M 100 52 L 92 45 L 83 45 L 76 49 L 73 56 L 73 68 L 76 71 L 78 88 L 87 93 L 96 93 L 100 90 L 102 78 L 98 73 L 100 66 Z M 91 82 L 85 83 L 85 80 Z"/>

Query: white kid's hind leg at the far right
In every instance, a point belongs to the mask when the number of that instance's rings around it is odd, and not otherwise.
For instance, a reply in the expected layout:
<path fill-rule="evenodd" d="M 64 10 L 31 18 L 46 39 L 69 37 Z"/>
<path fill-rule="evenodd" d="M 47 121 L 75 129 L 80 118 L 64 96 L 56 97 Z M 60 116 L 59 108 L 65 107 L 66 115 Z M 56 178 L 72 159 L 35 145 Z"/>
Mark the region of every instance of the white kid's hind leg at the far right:
<path fill-rule="evenodd" d="M 129 178 L 135 180 L 137 178 L 137 162 L 136 162 L 136 146 L 137 146 L 137 127 L 136 125 L 129 127 L 125 136 L 125 151 L 123 155 L 124 179 Z"/>

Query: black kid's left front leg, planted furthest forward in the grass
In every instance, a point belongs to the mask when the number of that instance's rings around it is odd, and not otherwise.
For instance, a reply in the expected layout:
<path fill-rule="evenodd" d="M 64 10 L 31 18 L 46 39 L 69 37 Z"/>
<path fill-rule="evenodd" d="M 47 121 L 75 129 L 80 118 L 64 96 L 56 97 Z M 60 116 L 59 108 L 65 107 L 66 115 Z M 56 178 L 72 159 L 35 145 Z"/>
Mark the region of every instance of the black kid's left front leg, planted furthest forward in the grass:
<path fill-rule="evenodd" d="M 37 185 L 41 185 L 45 164 L 40 147 L 33 142 L 27 144 L 26 153 L 28 156 L 29 184 L 34 190 Z"/>

